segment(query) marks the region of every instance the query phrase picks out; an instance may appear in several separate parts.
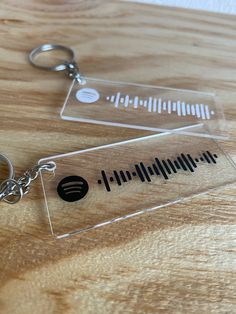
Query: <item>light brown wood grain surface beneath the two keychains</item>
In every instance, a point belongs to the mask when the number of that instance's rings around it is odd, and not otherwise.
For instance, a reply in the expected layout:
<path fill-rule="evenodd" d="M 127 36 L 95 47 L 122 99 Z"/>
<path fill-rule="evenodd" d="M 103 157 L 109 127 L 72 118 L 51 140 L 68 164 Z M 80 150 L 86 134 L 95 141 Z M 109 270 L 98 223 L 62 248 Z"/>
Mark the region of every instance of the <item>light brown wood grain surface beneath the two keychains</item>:
<path fill-rule="evenodd" d="M 0 147 L 17 175 L 38 159 L 144 132 L 65 122 L 70 80 L 33 68 L 45 42 L 73 47 L 87 76 L 216 92 L 236 160 L 236 18 L 113 1 L 0 4 Z M 235 186 L 55 240 L 40 182 L 1 203 L 0 312 L 235 313 Z"/>

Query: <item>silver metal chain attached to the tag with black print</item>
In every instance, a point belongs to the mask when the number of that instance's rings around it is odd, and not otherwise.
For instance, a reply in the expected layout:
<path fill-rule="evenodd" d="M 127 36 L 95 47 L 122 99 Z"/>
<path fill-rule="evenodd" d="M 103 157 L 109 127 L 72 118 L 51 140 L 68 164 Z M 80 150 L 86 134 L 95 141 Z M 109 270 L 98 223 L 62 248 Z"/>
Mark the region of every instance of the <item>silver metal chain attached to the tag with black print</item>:
<path fill-rule="evenodd" d="M 40 171 L 54 172 L 56 164 L 51 161 L 45 164 L 35 165 L 28 169 L 19 179 L 7 179 L 0 184 L 0 201 L 8 204 L 19 202 L 29 192 L 30 184 L 34 181 Z"/>

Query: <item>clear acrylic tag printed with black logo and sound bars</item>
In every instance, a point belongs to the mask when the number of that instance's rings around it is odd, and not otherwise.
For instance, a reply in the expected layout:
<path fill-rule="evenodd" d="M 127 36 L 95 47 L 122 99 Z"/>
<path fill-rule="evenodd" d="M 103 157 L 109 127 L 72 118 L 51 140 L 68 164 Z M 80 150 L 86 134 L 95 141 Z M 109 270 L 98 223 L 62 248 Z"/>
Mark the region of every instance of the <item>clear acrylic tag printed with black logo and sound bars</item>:
<path fill-rule="evenodd" d="M 42 159 L 52 233 L 65 237 L 235 182 L 233 162 L 209 138 L 156 134 Z"/>

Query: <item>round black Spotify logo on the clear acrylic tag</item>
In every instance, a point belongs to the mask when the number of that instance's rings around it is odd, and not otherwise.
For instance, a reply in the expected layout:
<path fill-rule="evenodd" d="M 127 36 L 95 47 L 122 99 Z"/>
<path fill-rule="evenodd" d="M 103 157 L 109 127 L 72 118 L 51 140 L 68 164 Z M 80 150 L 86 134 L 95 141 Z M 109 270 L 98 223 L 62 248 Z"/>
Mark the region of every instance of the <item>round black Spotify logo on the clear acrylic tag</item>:
<path fill-rule="evenodd" d="M 57 186 L 57 193 L 63 201 L 76 202 L 88 193 L 88 182 L 79 176 L 69 176 L 62 179 Z"/>

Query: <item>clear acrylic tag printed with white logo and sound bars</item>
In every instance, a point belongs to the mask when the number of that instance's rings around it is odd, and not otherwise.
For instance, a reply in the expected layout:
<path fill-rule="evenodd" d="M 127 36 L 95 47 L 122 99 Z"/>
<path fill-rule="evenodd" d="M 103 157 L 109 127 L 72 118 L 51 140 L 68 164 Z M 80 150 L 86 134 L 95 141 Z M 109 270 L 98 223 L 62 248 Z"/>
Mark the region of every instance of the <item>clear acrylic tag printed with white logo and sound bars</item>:
<path fill-rule="evenodd" d="M 86 78 L 73 81 L 61 110 L 64 120 L 154 132 L 202 123 L 181 134 L 226 138 L 222 106 L 214 94 Z"/>

